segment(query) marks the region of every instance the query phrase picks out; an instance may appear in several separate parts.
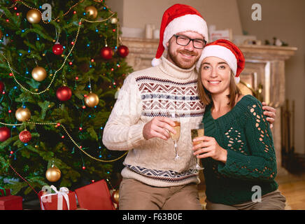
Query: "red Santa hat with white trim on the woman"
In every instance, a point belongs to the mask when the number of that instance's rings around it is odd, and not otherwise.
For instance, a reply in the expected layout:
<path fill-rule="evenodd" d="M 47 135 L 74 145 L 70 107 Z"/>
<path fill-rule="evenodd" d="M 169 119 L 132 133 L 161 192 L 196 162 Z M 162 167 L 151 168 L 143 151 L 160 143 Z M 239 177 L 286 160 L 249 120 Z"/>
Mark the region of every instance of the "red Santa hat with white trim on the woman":
<path fill-rule="evenodd" d="M 198 72 L 202 61 L 206 57 L 219 57 L 225 60 L 234 73 L 235 82 L 239 83 L 239 74 L 245 67 L 245 57 L 243 57 L 243 52 L 234 43 L 224 39 L 208 43 L 204 50 L 202 50 L 201 56 L 196 64 Z"/>

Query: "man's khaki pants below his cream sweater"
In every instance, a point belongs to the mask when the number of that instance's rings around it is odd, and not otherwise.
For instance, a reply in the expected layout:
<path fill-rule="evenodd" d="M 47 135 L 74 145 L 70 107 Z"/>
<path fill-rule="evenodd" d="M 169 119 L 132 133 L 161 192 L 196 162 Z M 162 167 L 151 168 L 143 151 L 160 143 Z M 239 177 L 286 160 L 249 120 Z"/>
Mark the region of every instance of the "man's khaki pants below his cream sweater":
<path fill-rule="evenodd" d="M 120 184 L 120 210 L 201 210 L 197 184 L 153 187 L 134 179 Z"/>

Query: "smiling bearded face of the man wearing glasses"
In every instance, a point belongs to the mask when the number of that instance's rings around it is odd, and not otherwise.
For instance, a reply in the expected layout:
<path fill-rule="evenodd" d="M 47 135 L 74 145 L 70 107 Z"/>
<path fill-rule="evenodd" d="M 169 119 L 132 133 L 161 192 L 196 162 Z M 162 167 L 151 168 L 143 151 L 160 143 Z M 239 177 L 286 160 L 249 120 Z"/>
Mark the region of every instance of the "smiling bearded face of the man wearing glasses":
<path fill-rule="evenodd" d="M 204 37 L 201 34 L 194 31 L 184 31 L 177 35 L 204 40 Z M 190 69 L 197 62 L 202 52 L 202 49 L 194 48 L 192 41 L 185 46 L 178 45 L 176 43 L 176 36 L 172 36 L 166 45 L 168 49 L 166 59 L 173 64 L 176 64 L 176 66 L 179 66 L 181 69 Z"/>

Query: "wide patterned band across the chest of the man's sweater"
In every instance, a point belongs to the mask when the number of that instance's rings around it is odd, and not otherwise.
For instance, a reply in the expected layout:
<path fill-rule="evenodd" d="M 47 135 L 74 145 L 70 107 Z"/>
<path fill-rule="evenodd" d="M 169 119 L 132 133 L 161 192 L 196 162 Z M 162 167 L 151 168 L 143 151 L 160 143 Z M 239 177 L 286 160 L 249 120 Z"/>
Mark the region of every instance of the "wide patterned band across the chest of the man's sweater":
<path fill-rule="evenodd" d="M 197 94 L 197 79 L 174 82 L 169 79 L 139 76 L 136 78 L 142 99 L 142 115 L 148 117 L 167 116 L 199 117 L 204 106 Z"/>

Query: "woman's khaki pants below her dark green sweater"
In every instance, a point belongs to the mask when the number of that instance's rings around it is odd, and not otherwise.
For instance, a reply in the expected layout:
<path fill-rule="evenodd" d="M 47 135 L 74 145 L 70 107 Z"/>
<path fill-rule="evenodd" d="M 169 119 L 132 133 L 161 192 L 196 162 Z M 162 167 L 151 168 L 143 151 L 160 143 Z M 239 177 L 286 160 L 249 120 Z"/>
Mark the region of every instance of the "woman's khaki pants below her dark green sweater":
<path fill-rule="evenodd" d="M 242 204 L 216 204 L 206 200 L 207 210 L 284 210 L 286 199 L 280 191 L 275 190 L 262 196 L 261 202 L 245 202 Z"/>

